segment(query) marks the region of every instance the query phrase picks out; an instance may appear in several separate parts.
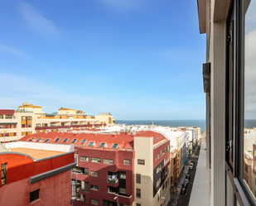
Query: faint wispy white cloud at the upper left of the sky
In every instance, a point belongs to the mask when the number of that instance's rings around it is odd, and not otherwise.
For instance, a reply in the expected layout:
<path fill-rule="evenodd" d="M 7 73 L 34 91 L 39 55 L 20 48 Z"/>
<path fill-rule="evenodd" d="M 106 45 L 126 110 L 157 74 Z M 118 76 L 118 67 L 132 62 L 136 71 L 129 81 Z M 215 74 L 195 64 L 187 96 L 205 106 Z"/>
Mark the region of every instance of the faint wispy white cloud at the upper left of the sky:
<path fill-rule="evenodd" d="M 60 36 L 60 30 L 56 27 L 55 23 L 46 17 L 43 17 L 42 13 L 36 11 L 36 9 L 33 8 L 29 3 L 20 2 L 19 12 L 21 12 L 22 17 L 32 30 L 44 36 Z"/>

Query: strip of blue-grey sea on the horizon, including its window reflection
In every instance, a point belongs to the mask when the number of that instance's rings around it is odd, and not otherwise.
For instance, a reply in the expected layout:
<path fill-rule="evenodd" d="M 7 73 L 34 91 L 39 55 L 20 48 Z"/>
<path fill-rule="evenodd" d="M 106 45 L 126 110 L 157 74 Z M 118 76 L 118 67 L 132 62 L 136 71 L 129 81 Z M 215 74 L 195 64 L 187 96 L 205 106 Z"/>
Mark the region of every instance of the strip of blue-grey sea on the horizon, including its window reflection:
<path fill-rule="evenodd" d="M 201 132 L 205 132 L 205 119 L 201 120 L 116 120 L 117 124 L 126 125 L 159 125 L 162 127 L 200 127 Z M 256 127 L 256 119 L 245 119 L 245 128 Z"/>

